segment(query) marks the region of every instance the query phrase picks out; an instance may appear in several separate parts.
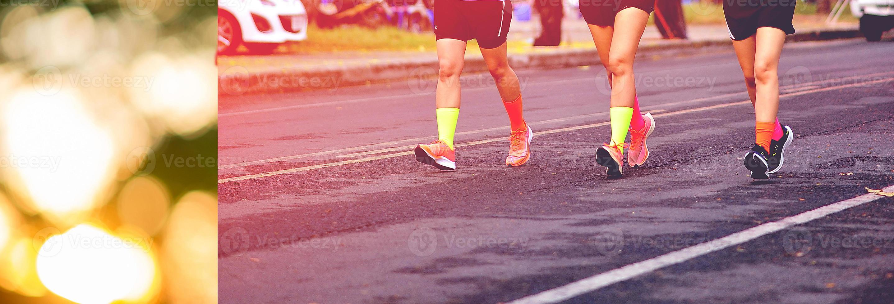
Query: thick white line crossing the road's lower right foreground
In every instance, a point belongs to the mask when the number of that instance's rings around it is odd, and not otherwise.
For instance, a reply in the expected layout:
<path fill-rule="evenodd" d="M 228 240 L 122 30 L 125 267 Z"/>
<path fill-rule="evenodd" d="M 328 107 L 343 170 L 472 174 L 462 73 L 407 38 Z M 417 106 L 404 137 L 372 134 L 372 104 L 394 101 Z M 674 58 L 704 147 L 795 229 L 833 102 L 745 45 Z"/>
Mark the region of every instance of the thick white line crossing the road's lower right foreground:
<path fill-rule="evenodd" d="M 894 191 L 894 185 L 889 185 L 888 187 L 884 188 L 884 191 Z M 699 256 L 703 256 L 713 251 L 720 251 L 721 249 L 729 248 L 730 246 L 738 245 L 743 242 L 748 242 L 763 235 L 772 234 L 790 226 L 804 224 L 806 222 L 828 216 L 841 210 L 847 210 L 848 208 L 856 207 L 870 201 L 881 199 L 882 197 L 884 196 L 875 193 L 867 193 L 845 201 L 831 203 L 814 210 L 806 211 L 796 216 L 782 218 L 775 222 L 754 226 L 711 242 L 703 242 L 692 247 L 681 249 L 679 251 L 673 251 L 671 253 L 663 254 L 652 259 L 646 259 L 644 261 L 610 270 L 599 275 L 593 275 L 574 283 L 556 287 L 545 292 L 536 293 L 519 300 L 513 300 L 507 304 L 540 304 L 569 300 L 578 295 L 584 294 L 586 292 L 593 292 L 597 289 L 603 288 L 613 283 L 625 281 L 632 277 L 643 275 L 662 267 L 679 264 L 689 259 L 695 259 Z"/>

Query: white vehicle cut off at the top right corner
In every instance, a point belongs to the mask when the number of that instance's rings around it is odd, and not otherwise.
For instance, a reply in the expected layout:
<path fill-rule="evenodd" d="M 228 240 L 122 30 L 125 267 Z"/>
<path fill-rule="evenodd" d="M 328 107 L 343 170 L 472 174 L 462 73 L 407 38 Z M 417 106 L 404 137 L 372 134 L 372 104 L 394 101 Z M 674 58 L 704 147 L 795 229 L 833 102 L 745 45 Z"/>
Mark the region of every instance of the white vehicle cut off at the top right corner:
<path fill-rule="evenodd" d="M 867 41 L 879 41 L 882 33 L 894 29 L 894 0 L 851 0 L 850 12 L 860 19 Z"/>

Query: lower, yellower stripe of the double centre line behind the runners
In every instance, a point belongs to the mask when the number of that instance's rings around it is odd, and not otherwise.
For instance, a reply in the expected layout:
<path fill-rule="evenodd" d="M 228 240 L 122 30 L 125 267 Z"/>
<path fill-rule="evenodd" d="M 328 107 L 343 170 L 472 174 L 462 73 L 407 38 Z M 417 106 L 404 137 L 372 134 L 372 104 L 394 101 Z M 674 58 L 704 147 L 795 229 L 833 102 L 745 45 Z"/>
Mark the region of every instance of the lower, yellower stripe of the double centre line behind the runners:
<path fill-rule="evenodd" d="M 803 95 L 803 94 L 811 94 L 811 93 L 817 93 L 817 92 L 823 92 L 823 91 L 830 91 L 830 90 L 842 89 L 842 88 L 853 87 L 853 86 L 866 86 L 866 85 L 872 85 L 872 84 L 881 83 L 881 82 L 887 82 L 887 81 L 891 81 L 891 80 L 892 80 L 891 78 L 881 78 L 878 80 L 866 81 L 866 82 L 856 82 L 856 83 L 851 83 L 848 85 L 825 86 L 825 87 L 815 88 L 815 89 L 810 89 L 810 90 L 805 90 L 805 91 L 798 91 L 795 93 L 780 94 L 780 98 Z M 747 103 L 751 103 L 751 101 L 746 100 L 746 101 L 735 102 L 735 103 L 720 103 L 720 104 L 714 104 L 714 105 L 709 105 L 709 106 L 704 106 L 704 107 L 699 107 L 699 108 L 694 108 L 694 109 L 670 111 L 670 112 L 664 112 L 664 113 L 655 115 L 654 117 L 678 115 L 678 114 L 684 114 L 684 113 L 689 113 L 689 112 L 694 112 L 694 111 L 713 110 L 713 109 L 725 108 L 725 107 L 730 107 L 730 106 L 735 106 L 735 105 L 743 105 L 743 104 L 747 104 Z M 592 115 L 592 114 L 590 114 L 590 115 Z M 539 131 L 539 132 L 535 131 L 535 135 L 545 135 L 545 134 L 573 131 L 573 130 L 579 130 L 579 129 L 583 129 L 583 128 L 587 128 L 587 127 L 600 127 L 600 126 L 605 126 L 608 124 L 609 124 L 609 122 L 605 121 L 605 122 L 599 122 L 599 123 L 595 123 L 595 124 L 588 124 L 588 125 L 582 125 L 582 126 L 562 127 L 562 128 L 544 130 L 544 131 Z M 500 141 L 504 141 L 504 140 L 506 140 L 506 139 L 505 138 L 485 139 L 485 140 L 480 140 L 480 141 L 476 141 L 476 142 L 457 144 L 456 147 L 463 147 L 463 146 L 475 145 L 475 144 L 487 144 L 487 143 L 493 143 L 493 142 L 500 142 Z M 385 149 L 385 150 L 388 150 L 388 149 Z M 329 162 L 329 163 L 325 163 L 325 164 L 319 164 L 319 165 L 313 165 L 313 166 L 307 166 L 307 167 L 287 168 L 287 169 L 282 169 L 282 170 L 251 174 L 251 175 L 246 175 L 246 176 L 219 178 L 219 179 L 217 179 L 217 184 L 223 184 L 223 183 L 227 183 L 227 182 L 234 182 L 234 181 L 245 180 L 245 179 L 260 178 L 260 177 L 273 177 L 273 176 L 278 176 L 278 175 L 282 175 L 282 174 L 289 174 L 289 173 L 312 170 L 312 169 L 316 169 L 316 168 L 342 166 L 342 165 L 348 165 L 348 164 L 371 161 L 371 160 L 383 160 L 383 159 L 388 159 L 388 158 L 392 158 L 392 157 L 411 155 L 411 154 L 413 154 L 412 151 L 397 152 L 397 153 L 371 156 L 371 157 L 355 159 L 355 160 L 342 160 L 342 161 Z"/>

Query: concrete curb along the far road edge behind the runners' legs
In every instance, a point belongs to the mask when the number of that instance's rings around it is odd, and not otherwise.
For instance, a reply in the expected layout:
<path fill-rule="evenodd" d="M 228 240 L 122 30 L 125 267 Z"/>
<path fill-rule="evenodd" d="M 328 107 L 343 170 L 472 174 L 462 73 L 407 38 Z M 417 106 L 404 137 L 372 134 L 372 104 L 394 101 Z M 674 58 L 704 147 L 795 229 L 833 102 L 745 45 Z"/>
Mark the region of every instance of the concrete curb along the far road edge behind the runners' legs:
<path fill-rule="evenodd" d="M 788 42 L 818 41 L 862 37 L 856 29 L 806 30 L 786 37 Z M 668 57 L 701 53 L 717 46 L 731 45 L 730 39 L 688 41 L 674 40 L 655 45 L 641 45 L 638 57 Z M 560 69 L 599 64 L 593 49 L 555 49 L 538 53 L 509 55 L 514 70 Z M 318 88 L 337 88 L 372 83 L 387 83 L 408 78 L 433 78 L 438 70 L 437 59 L 398 60 L 333 68 L 283 69 L 249 72 L 240 66 L 223 70 L 217 78 L 218 95 L 279 94 Z M 467 57 L 464 73 L 487 71 L 480 57 Z"/>

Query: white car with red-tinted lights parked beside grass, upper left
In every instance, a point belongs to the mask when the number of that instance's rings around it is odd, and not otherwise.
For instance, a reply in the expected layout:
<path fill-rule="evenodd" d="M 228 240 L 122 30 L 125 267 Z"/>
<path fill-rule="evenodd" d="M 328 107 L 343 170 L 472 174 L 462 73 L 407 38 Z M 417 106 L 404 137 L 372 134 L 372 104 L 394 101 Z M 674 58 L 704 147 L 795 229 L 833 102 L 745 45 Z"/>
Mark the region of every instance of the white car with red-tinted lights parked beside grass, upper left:
<path fill-rule="evenodd" d="M 308 38 L 308 12 L 300 0 L 220 0 L 217 2 L 217 53 L 268 54 L 287 41 Z"/>

